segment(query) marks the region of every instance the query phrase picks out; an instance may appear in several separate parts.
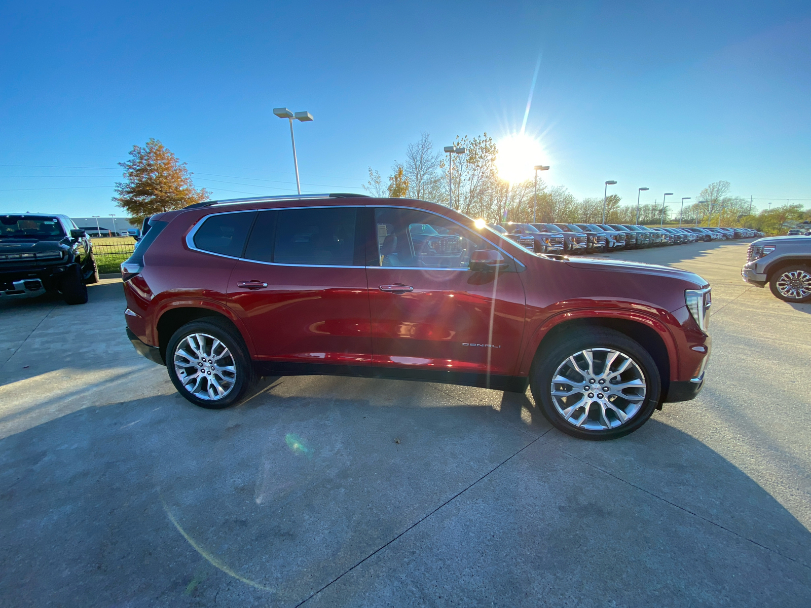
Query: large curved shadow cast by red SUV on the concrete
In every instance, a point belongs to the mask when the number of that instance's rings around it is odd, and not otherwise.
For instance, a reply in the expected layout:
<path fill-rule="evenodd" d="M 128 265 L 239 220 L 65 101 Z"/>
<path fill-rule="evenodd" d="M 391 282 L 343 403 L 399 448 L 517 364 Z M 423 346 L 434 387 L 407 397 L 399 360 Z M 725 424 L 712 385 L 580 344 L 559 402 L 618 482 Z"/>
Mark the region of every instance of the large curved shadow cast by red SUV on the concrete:
<path fill-rule="evenodd" d="M 0 594 L 11 606 L 809 597 L 809 531 L 680 430 L 651 420 L 583 442 L 548 430 L 526 396 L 467 403 L 407 383 L 402 397 L 403 384 L 270 378 L 232 409 L 150 396 L 0 440 Z"/>

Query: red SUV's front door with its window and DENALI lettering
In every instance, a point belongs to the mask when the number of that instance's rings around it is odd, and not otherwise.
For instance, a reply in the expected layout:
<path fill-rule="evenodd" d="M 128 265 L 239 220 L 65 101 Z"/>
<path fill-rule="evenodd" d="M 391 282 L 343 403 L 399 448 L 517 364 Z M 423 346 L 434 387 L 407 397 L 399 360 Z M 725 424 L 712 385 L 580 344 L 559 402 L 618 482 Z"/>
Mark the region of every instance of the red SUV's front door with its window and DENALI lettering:
<path fill-rule="evenodd" d="M 526 300 L 517 272 L 472 272 L 494 249 L 443 216 L 375 208 L 367 267 L 375 366 L 513 374 Z"/>

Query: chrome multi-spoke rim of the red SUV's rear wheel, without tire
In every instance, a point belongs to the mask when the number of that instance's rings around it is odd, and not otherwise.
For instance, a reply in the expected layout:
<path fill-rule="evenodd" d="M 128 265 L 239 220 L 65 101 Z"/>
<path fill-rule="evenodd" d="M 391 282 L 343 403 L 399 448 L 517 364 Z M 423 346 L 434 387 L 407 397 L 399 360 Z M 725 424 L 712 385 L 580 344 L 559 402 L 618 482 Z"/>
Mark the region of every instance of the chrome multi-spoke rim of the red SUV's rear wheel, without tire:
<path fill-rule="evenodd" d="M 237 381 L 230 350 L 214 336 L 193 333 L 174 349 L 174 371 L 183 388 L 198 399 L 217 401 L 228 395 Z"/>

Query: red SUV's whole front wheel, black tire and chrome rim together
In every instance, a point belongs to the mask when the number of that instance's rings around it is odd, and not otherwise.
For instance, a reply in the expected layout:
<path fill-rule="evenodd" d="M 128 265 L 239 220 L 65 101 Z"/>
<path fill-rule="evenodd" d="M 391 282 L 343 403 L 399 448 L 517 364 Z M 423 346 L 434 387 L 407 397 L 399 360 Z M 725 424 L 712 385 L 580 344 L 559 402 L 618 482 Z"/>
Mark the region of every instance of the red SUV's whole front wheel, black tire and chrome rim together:
<path fill-rule="evenodd" d="M 607 328 L 565 335 L 530 372 L 535 403 L 579 439 L 616 439 L 645 424 L 659 403 L 659 369 L 637 341 Z"/>

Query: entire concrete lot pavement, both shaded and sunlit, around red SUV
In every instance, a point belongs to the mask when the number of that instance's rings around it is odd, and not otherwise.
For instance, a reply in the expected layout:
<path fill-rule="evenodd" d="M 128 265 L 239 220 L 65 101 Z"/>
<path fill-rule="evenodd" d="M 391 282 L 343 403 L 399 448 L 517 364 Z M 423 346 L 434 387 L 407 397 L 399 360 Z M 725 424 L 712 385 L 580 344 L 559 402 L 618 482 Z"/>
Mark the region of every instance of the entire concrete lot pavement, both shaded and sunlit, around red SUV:
<path fill-rule="evenodd" d="M 10 606 L 807 606 L 811 305 L 746 242 L 611 254 L 713 287 L 706 386 L 571 439 L 531 397 L 265 379 L 195 408 L 90 302 L 0 302 L 0 594 Z M 543 289 L 543 286 L 539 286 Z"/>

